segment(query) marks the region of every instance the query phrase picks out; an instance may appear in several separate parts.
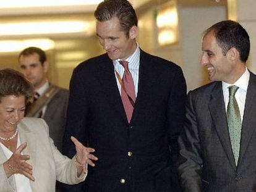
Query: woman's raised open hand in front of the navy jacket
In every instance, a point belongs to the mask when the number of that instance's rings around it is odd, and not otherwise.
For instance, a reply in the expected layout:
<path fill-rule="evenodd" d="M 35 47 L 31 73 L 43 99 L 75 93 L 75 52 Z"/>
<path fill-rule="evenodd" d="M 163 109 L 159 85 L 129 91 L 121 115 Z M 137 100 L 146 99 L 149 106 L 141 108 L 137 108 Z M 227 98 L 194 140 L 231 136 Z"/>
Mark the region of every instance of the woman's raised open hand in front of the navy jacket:
<path fill-rule="evenodd" d="M 94 167 L 95 164 L 93 161 L 97 161 L 98 158 L 91 154 L 91 152 L 95 152 L 95 149 L 83 146 L 83 144 L 80 143 L 74 136 L 71 136 L 71 140 L 75 144 L 75 150 L 77 151 L 77 161 L 79 164 L 89 164 Z"/>

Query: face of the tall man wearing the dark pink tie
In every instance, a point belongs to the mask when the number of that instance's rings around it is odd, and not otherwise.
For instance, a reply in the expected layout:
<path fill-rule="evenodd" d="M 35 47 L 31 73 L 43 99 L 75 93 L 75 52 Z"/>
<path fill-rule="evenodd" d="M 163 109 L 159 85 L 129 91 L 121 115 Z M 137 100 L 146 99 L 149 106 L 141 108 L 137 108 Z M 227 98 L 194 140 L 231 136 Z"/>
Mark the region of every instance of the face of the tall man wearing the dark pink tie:
<path fill-rule="evenodd" d="M 121 30 L 117 17 L 105 22 L 97 22 L 96 35 L 101 46 L 112 60 L 126 59 L 137 47 L 135 41 L 137 27 L 132 27 L 129 31 L 129 37 L 127 37 L 126 32 Z"/>

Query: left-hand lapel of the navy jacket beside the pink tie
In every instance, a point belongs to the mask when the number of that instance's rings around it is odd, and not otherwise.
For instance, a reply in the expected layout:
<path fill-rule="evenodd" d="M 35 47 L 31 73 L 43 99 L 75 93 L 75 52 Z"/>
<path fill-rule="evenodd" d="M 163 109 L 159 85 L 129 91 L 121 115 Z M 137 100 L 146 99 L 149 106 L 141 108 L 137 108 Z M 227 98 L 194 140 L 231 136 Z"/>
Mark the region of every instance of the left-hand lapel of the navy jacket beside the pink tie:
<path fill-rule="evenodd" d="M 107 54 L 100 57 L 98 61 L 98 80 L 100 80 L 101 88 L 105 92 L 105 98 L 108 99 L 117 114 L 121 114 L 122 119 L 127 121 L 124 107 L 122 106 L 121 96 L 117 87 L 116 77 L 114 75 L 113 61 L 109 59 Z"/>

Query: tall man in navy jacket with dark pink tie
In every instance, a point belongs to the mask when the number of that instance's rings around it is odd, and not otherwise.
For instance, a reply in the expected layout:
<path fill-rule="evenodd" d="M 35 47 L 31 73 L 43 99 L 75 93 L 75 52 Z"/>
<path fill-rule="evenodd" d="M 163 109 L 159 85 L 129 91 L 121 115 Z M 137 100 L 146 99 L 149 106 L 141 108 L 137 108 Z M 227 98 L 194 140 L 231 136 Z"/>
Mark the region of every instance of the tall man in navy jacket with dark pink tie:
<path fill-rule="evenodd" d="M 182 70 L 139 48 L 137 16 L 129 1 L 103 1 L 95 17 L 106 54 L 74 69 L 64 153 L 74 154 L 74 135 L 95 149 L 98 161 L 88 167 L 81 186 L 67 191 L 179 191 L 175 163 L 186 99 Z M 126 86 L 131 79 L 135 99 Z M 123 104 L 125 96 L 132 114 Z"/>

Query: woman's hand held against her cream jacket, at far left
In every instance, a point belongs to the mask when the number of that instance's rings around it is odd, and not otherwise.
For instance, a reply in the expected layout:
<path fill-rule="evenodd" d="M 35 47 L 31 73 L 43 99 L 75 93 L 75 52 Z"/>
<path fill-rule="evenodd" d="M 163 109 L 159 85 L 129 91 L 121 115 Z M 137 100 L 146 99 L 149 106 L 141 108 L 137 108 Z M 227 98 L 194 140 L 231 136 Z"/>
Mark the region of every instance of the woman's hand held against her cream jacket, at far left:
<path fill-rule="evenodd" d="M 25 175 L 25 177 L 29 178 L 32 181 L 35 181 L 35 178 L 33 177 L 32 172 L 32 165 L 28 164 L 26 161 L 30 159 L 30 156 L 28 155 L 22 155 L 21 152 L 23 149 L 27 147 L 27 143 L 20 144 L 19 148 L 14 151 L 10 159 L 8 159 L 5 164 L 6 167 L 9 170 L 9 174 L 7 176 L 11 176 L 15 173 L 20 173 L 22 175 Z"/>

